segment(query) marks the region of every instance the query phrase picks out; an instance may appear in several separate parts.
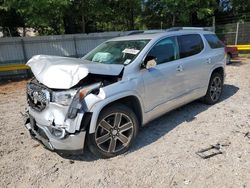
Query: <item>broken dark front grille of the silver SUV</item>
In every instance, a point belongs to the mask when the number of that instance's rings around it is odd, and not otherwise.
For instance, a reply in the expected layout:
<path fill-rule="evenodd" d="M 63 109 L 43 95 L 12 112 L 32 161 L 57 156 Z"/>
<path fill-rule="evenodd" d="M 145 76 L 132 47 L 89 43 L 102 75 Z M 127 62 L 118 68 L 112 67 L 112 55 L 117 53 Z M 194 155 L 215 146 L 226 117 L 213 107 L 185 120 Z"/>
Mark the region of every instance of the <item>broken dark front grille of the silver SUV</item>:
<path fill-rule="evenodd" d="M 50 92 L 42 85 L 29 83 L 27 85 L 27 100 L 33 109 L 42 111 L 50 101 Z"/>

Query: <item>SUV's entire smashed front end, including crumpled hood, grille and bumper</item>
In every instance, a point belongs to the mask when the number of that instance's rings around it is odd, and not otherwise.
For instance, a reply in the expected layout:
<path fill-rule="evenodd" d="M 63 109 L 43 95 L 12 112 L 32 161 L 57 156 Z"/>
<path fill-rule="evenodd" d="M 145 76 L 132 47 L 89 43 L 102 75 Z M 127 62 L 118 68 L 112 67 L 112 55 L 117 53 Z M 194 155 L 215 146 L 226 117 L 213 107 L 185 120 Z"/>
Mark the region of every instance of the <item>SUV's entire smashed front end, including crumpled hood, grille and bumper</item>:
<path fill-rule="evenodd" d="M 103 87 L 121 79 L 123 66 L 35 56 L 27 63 L 34 74 L 27 84 L 26 128 L 48 149 L 83 151 L 91 107 L 105 99 Z"/>

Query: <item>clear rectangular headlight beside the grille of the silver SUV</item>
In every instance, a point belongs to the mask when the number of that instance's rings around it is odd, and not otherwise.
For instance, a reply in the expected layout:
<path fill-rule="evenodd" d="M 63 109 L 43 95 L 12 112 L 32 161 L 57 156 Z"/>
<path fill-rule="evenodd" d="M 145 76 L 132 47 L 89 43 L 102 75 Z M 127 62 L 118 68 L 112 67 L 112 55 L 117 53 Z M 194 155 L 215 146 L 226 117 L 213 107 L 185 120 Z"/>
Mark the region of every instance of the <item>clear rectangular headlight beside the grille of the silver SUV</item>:
<path fill-rule="evenodd" d="M 76 92 L 77 90 L 53 92 L 52 102 L 55 102 L 64 106 L 69 106 Z"/>

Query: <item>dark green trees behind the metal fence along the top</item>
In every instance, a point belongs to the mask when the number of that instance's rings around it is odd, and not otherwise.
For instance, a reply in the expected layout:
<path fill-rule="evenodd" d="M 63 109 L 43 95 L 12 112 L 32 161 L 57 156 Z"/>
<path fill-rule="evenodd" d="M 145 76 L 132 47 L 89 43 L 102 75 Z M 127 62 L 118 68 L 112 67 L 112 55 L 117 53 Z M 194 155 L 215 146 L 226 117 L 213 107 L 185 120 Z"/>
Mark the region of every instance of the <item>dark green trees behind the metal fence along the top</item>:
<path fill-rule="evenodd" d="M 231 0 L 233 14 L 250 0 Z M 218 0 L 0 0 L 0 26 L 40 35 L 211 25 Z M 241 16 L 244 14 L 240 14 Z M 10 24 L 11 23 L 11 24 Z"/>

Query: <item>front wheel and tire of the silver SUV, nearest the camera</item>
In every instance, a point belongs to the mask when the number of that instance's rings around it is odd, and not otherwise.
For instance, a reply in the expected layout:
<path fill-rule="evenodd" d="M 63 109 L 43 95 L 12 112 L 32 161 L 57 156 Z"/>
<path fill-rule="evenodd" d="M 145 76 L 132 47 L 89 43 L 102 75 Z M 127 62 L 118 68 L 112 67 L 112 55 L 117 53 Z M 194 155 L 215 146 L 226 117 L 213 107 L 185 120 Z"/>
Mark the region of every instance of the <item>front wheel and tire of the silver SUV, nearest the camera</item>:
<path fill-rule="evenodd" d="M 130 108 L 121 104 L 110 106 L 100 113 L 95 133 L 88 135 L 88 147 L 97 157 L 120 155 L 132 145 L 138 127 L 136 115 Z"/>

